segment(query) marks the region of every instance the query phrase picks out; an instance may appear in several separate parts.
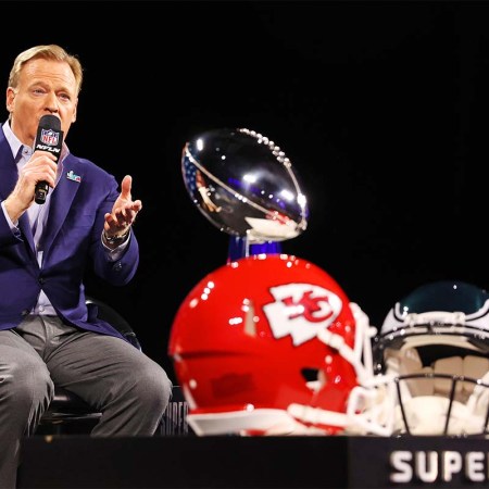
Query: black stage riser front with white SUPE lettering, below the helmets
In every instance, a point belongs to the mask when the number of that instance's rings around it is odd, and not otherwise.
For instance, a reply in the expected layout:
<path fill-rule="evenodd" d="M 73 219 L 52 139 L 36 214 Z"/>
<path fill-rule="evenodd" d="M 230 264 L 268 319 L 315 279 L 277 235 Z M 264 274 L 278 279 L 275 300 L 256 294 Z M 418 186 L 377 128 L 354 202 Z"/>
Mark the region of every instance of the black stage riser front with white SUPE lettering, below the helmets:
<path fill-rule="evenodd" d="M 35 436 L 18 488 L 475 488 L 488 456 L 443 437 Z"/>

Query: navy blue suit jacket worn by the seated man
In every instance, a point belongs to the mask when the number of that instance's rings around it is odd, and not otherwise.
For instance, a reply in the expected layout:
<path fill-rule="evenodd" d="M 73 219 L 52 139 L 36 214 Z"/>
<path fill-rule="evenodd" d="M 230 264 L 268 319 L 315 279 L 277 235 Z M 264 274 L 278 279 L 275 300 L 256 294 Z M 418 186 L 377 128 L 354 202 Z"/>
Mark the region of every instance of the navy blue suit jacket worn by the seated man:
<path fill-rule="evenodd" d="M 68 172 L 80 181 L 66 177 Z M 12 191 L 17 168 L 0 127 L 0 201 Z M 88 160 L 68 154 L 52 190 L 43 234 L 43 262 L 37 263 L 27 213 L 18 221 L 16 238 L 0 209 L 0 329 L 17 326 L 36 305 L 42 288 L 58 314 L 68 324 L 123 338 L 108 323 L 92 317 L 85 304 L 86 266 L 114 286 L 127 284 L 139 264 L 135 235 L 121 260 L 110 262 L 101 243 L 104 214 L 120 191 L 115 178 Z M 131 231 L 133 233 L 133 231 Z"/>

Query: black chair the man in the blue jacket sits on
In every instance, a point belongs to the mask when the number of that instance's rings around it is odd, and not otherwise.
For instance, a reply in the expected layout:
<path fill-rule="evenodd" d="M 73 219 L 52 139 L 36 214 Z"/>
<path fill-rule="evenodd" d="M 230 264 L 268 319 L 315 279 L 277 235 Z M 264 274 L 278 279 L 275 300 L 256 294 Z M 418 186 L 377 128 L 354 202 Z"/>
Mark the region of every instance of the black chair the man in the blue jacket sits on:
<path fill-rule="evenodd" d="M 135 348 L 141 350 L 129 323 L 113 308 L 104 302 L 87 297 L 87 306 L 95 309 L 90 314 L 110 323 Z M 98 412 L 78 396 L 61 387 L 55 387 L 54 398 L 42 415 L 37 432 L 39 435 L 85 434 L 90 432 L 102 413 Z"/>

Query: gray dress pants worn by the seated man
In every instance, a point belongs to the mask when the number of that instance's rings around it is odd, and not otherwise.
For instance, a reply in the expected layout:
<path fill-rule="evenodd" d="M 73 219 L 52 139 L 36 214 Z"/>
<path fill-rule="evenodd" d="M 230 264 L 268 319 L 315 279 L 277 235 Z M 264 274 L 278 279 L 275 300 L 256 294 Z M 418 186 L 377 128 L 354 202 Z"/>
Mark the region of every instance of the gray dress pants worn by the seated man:
<path fill-rule="evenodd" d="M 93 437 L 153 436 L 172 396 L 165 371 L 128 342 L 27 316 L 0 331 L 0 488 L 13 489 L 22 440 L 64 387 L 102 412 Z"/>

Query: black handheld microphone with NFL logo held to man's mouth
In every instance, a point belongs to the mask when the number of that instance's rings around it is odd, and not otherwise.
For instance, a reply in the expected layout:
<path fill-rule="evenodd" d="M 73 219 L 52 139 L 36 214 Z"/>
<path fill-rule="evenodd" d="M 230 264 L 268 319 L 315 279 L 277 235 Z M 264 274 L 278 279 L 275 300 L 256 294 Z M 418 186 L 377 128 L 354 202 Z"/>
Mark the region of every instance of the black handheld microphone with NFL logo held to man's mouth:
<path fill-rule="evenodd" d="M 36 141 L 34 143 L 34 151 L 42 150 L 54 154 L 58 160 L 61 154 L 61 147 L 63 145 L 63 131 L 61 130 L 61 122 L 55 115 L 46 114 L 39 121 L 37 128 Z M 36 184 L 35 202 L 43 204 L 49 192 L 49 185 L 46 180 Z"/>

